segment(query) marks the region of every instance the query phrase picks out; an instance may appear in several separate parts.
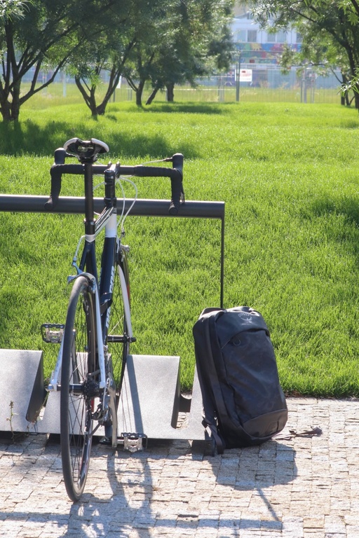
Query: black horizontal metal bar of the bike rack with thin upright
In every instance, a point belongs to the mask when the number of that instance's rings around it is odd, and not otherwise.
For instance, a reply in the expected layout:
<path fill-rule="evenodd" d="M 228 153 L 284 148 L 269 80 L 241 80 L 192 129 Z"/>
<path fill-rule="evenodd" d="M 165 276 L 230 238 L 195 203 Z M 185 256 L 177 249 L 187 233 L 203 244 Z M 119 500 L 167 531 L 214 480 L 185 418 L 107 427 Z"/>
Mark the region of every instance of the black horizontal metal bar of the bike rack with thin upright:
<path fill-rule="evenodd" d="M 81 214 L 85 212 L 85 198 L 75 196 L 62 196 L 51 212 L 45 209 L 48 196 L 33 195 L 0 195 L 0 211 L 25 212 L 25 213 L 65 213 Z M 128 198 L 125 202 L 125 212 L 130 209 L 133 199 Z M 118 201 L 121 207 L 121 201 Z M 95 212 L 100 213 L 104 209 L 103 198 L 94 199 Z M 170 200 L 136 200 L 129 216 L 167 216 L 184 217 L 192 219 L 220 219 L 221 221 L 221 277 L 220 277 L 220 305 L 223 308 L 224 299 L 224 202 L 198 202 L 186 201 L 179 208 L 177 215 L 168 213 Z"/>

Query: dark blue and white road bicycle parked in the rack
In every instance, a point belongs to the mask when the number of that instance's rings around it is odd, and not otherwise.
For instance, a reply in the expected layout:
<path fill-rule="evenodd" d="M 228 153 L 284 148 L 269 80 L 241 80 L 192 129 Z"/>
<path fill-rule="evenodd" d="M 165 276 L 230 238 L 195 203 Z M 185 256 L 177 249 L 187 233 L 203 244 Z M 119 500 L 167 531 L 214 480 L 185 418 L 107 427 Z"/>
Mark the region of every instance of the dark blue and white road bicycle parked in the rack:
<path fill-rule="evenodd" d="M 62 471 L 67 495 L 74 502 L 83 493 L 93 436 L 100 427 L 104 427 L 104 442 L 112 447 L 118 445 L 118 399 L 130 343 L 135 341 L 130 318 L 129 247 L 122 240 L 125 235 L 124 220 L 136 198 L 125 212 L 122 182 L 130 181 L 133 184 L 133 181 L 123 176 L 170 177 L 170 214 L 177 214 L 184 202 L 181 153 L 163 159 L 163 162 L 172 162 L 172 168 L 95 164 L 97 157 L 108 151 L 107 144 L 94 138 L 89 141 L 70 139 L 63 148 L 55 150 L 55 163 L 50 169 L 50 198 L 46 202 L 47 210 L 55 208 L 63 174 L 83 176 L 85 234 L 79 240 L 72 260 L 76 274 L 67 279 L 73 283 L 73 287 L 66 322 L 41 326 L 43 340 L 60 343 L 48 390 L 60 390 Z M 77 158 L 79 163 L 67 164 L 67 158 Z M 94 174 L 104 177 L 104 209 L 97 219 L 94 212 Z M 116 184 L 121 186 L 122 209 L 117 203 Z M 121 232 L 118 233 L 120 226 Z M 99 271 L 95 239 L 103 229 Z"/>

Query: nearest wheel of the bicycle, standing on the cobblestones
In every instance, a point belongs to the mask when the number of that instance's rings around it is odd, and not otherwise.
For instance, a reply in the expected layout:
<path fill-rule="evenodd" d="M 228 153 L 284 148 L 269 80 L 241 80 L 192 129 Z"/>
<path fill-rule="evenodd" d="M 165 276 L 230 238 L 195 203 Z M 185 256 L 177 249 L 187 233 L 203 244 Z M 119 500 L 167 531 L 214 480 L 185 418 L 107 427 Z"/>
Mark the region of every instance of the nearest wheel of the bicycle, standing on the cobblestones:
<path fill-rule="evenodd" d="M 79 277 L 67 310 L 60 394 L 62 472 L 72 501 L 82 495 L 90 462 L 93 406 L 98 392 L 95 342 L 93 294 L 86 277 Z"/>

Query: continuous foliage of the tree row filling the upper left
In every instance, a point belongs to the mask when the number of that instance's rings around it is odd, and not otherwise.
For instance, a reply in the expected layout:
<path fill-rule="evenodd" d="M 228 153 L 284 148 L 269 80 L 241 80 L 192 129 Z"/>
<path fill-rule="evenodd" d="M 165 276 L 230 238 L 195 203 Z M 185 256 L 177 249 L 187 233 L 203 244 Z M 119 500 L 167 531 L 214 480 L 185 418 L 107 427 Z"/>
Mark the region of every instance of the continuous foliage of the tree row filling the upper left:
<path fill-rule="evenodd" d="M 102 115 L 121 75 L 141 103 L 144 82 L 194 81 L 213 64 L 228 67 L 233 0 L 0 0 L 0 112 L 18 120 L 30 97 L 62 68 L 93 116 Z M 40 71 L 47 72 L 39 83 Z M 109 74 L 101 101 L 97 88 Z M 31 81 L 22 91 L 23 81 Z M 139 81 L 139 82 L 138 82 Z M 157 88 L 157 89 L 158 89 Z"/>

